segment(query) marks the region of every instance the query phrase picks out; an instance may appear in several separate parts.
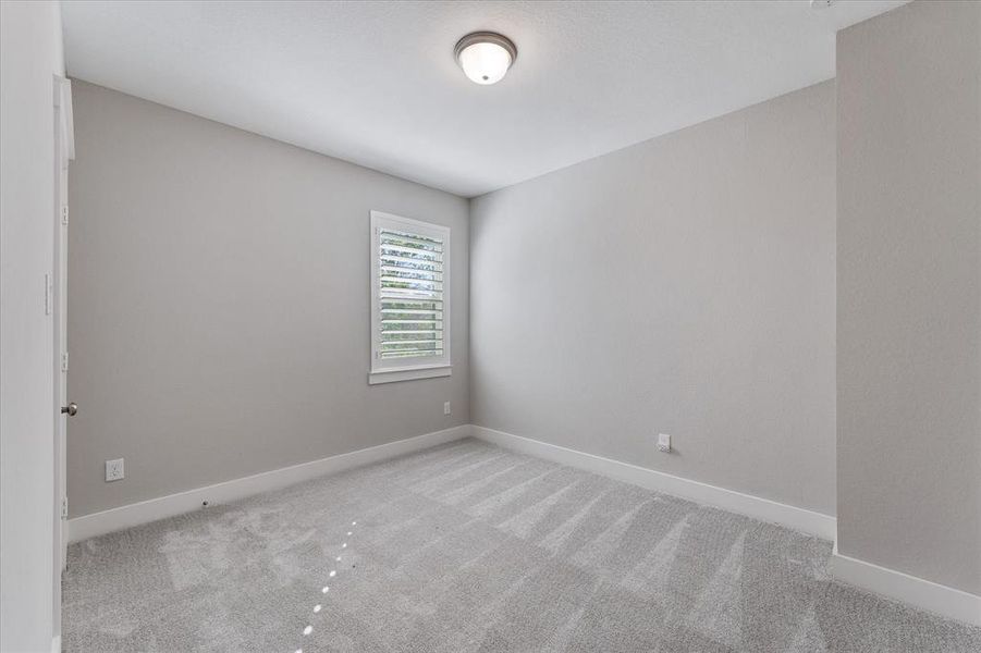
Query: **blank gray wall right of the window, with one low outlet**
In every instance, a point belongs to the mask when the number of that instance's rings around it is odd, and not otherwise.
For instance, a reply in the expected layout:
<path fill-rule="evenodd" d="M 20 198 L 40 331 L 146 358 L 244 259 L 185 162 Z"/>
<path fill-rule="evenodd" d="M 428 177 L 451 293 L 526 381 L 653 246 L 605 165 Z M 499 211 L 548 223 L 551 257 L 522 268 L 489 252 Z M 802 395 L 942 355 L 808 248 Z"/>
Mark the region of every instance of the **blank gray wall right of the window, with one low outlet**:
<path fill-rule="evenodd" d="M 475 199 L 474 422 L 833 515 L 834 103 L 826 82 Z"/>

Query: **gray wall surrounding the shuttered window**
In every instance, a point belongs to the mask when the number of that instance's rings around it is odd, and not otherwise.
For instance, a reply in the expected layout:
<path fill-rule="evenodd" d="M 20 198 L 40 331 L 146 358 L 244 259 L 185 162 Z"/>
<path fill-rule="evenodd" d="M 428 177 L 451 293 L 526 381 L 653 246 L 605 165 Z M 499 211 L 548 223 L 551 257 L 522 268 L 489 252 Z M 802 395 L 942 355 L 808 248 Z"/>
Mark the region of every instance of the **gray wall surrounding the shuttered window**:
<path fill-rule="evenodd" d="M 469 421 L 465 199 L 81 82 L 75 137 L 73 517 Z M 371 209 L 452 229 L 451 378 L 368 385 Z"/>

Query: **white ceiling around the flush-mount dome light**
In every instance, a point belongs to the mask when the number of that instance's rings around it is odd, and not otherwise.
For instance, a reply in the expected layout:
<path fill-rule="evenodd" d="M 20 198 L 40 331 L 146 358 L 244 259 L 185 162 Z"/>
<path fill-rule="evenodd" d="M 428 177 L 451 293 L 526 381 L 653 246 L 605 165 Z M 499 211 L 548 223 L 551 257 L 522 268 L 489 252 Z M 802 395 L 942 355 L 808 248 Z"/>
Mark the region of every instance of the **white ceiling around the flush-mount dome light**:
<path fill-rule="evenodd" d="M 906 0 L 63 2 L 69 74 L 463 196 L 834 76 Z M 478 86 L 453 46 L 518 47 Z"/>

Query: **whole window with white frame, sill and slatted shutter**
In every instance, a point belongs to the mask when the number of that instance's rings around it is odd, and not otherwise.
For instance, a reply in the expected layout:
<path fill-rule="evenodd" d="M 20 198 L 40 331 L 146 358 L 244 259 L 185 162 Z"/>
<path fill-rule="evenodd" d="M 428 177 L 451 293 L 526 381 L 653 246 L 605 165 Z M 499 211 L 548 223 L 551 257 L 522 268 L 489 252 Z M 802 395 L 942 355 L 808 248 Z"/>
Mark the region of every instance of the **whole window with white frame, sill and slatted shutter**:
<path fill-rule="evenodd" d="M 450 375 L 450 227 L 371 211 L 368 383 Z"/>

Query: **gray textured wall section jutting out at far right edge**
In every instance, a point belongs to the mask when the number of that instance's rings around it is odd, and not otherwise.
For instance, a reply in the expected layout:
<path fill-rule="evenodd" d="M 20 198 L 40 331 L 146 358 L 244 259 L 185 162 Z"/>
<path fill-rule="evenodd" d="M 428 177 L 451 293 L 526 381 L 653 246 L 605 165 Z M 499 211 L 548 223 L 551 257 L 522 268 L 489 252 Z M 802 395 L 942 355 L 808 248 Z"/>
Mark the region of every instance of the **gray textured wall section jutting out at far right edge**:
<path fill-rule="evenodd" d="M 838 550 L 981 593 L 981 3 L 837 62 Z"/>

